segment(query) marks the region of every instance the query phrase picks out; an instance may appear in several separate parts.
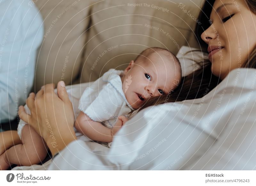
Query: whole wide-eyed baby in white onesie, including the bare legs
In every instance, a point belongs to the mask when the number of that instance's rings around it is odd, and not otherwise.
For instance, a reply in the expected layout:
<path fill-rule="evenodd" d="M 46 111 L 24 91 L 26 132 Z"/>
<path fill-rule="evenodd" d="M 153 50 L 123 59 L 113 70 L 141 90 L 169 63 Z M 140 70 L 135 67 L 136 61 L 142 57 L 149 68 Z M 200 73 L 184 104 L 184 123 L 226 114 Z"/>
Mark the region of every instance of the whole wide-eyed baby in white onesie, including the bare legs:
<path fill-rule="evenodd" d="M 110 143 L 130 113 L 150 97 L 170 94 L 180 79 L 180 62 L 175 55 L 162 48 L 148 48 L 124 71 L 110 69 L 84 90 L 79 100 L 75 128 L 91 140 Z M 0 169 L 12 164 L 38 164 L 46 157 L 44 140 L 22 120 L 18 135 L 22 144 L 0 155 Z"/>

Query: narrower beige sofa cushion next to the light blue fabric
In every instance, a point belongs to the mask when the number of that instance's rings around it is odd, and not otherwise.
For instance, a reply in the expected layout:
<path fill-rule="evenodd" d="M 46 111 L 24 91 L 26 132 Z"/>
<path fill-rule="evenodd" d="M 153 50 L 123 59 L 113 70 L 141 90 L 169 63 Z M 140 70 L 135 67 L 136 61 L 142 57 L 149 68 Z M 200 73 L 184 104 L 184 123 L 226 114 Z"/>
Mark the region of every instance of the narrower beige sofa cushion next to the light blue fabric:
<path fill-rule="evenodd" d="M 79 73 L 85 30 L 93 0 L 34 0 L 44 19 L 44 41 L 38 50 L 36 91 L 60 80 L 70 84 Z"/>

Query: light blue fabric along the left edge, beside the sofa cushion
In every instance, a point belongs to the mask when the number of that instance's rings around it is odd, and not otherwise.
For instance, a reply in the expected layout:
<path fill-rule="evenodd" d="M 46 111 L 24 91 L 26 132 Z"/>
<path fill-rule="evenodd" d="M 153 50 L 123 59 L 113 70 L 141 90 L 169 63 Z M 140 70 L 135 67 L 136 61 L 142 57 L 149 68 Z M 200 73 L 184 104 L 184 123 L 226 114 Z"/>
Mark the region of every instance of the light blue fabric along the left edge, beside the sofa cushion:
<path fill-rule="evenodd" d="M 13 120 L 31 91 L 43 19 L 29 0 L 0 0 L 0 120 Z"/>

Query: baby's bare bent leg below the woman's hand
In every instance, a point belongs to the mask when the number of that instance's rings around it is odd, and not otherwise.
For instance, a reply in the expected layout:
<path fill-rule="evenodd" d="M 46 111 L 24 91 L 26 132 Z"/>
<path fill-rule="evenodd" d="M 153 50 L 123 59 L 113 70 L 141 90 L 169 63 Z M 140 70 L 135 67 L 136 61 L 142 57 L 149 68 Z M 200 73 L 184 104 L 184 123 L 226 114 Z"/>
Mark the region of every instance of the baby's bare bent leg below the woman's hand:
<path fill-rule="evenodd" d="M 26 124 L 21 132 L 23 144 L 18 144 L 4 153 L 4 158 L 12 164 L 31 166 L 43 161 L 47 155 L 47 146 L 44 139 L 37 132 Z"/>

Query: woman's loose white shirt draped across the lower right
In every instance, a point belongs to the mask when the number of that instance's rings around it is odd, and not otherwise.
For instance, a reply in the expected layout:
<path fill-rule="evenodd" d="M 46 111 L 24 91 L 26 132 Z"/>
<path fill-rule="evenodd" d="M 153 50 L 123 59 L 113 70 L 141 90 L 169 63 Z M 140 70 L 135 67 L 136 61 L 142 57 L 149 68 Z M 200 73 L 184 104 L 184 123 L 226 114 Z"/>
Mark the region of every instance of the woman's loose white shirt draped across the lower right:
<path fill-rule="evenodd" d="M 235 69 L 203 98 L 142 110 L 110 149 L 80 139 L 36 169 L 255 170 L 255 81 L 255 69 Z M 69 90 L 78 100 L 81 85 Z"/>

